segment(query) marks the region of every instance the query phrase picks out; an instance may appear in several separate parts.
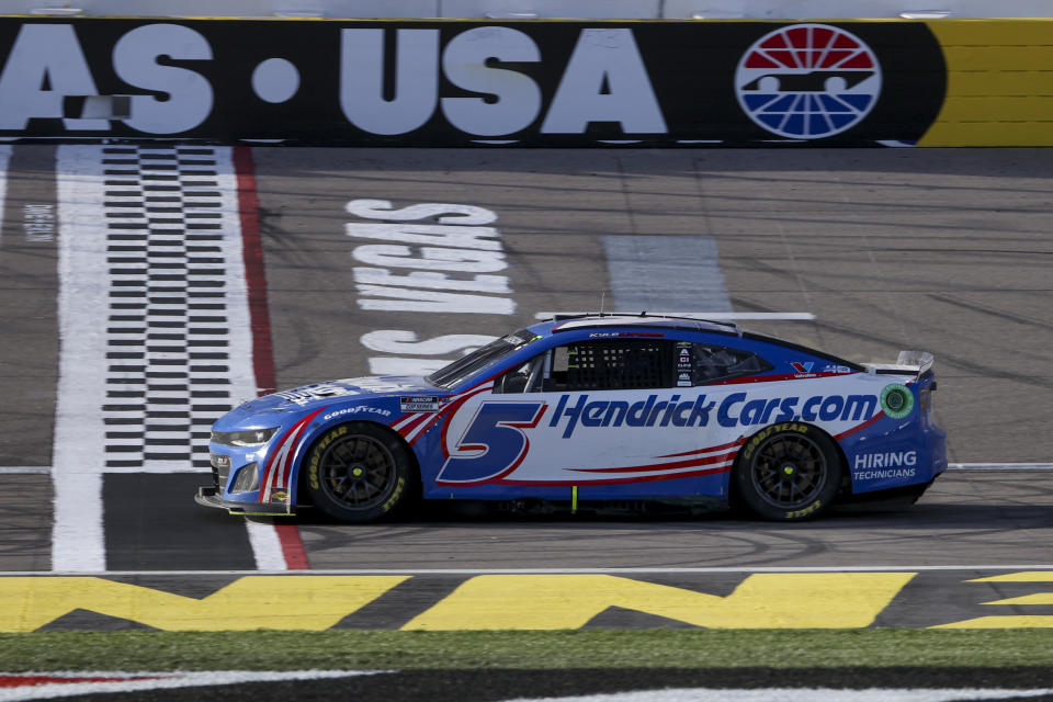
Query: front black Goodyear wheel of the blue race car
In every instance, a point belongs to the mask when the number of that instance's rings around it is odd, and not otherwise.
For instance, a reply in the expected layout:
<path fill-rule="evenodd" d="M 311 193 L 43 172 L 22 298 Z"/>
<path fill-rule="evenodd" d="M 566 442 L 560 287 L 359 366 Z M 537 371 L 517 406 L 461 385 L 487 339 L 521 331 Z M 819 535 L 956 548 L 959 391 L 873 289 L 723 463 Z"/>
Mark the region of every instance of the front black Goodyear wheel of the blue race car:
<path fill-rule="evenodd" d="M 416 485 L 400 437 L 369 422 L 326 431 L 307 452 L 306 485 L 315 506 L 344 522 L 372 522 L 404 506 Z"/>

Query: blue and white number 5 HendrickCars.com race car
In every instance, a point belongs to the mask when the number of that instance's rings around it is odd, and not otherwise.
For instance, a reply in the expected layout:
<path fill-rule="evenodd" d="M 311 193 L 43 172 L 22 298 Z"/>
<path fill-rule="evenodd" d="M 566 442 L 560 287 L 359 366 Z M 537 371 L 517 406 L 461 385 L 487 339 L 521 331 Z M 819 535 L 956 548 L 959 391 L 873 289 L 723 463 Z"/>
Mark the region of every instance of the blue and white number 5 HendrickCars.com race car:
<path fill-rule="evenodd" d="M 428 376 L 316 383 L 219 418 L 238 514 L 371 522 L 418 499 L 568 506 L 716 500 L 779 521 L 917 499 L 947 467 L 929 353 L 857 364 L 732 324 L 554 315 Z"/>

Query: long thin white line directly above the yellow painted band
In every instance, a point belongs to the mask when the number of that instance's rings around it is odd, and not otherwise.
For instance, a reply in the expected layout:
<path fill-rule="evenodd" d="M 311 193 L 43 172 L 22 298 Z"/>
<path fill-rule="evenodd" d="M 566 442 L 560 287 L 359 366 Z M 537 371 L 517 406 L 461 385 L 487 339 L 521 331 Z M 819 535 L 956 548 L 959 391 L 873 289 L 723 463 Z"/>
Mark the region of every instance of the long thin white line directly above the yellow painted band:
<path fill-rule="evenodd" d="M 100 570 L 98 573 L 59 573 L 50 570 L 8 570 L 0 578 L 33 576 L 250 576 L 250 575 L 707 575 L 715 573 L 939 573 L 951 570 L 1053 571 L 1053 564 L 951 565 L 951 566 L 726 566 L 700 568 L 344 568 L 286 570 Z"/>

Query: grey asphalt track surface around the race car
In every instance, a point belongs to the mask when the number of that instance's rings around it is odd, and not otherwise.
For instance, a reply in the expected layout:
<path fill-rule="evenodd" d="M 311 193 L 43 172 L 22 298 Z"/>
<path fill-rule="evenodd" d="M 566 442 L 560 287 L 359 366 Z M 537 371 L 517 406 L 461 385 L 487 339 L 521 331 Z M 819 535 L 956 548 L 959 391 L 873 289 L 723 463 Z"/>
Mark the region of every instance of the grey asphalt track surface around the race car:
<path fill-rule="evenodd" d="M 933 352 L 940 383 L 937 418 L 949 432 L 952 462 L 1053 460 L 1053 433 L 1048 430 L 1053 410 L 1053 163 L 1044 151 L 257 148 L 252 156 L 280 387 L 365 375 L 369 358 L 398 355 L 390 351 L 394 347 L 366 348 L 362 339 L 371 332 L 415 335 L 399 337 L 403 342 L 453 333 L 496 336 L 530 324 L 536 310 L 595 309 L 601 296 L 616 296 L 604 254 L 607 238 L 711 237 L 723 287 L 736 312 L 816 316 L 813 322 L 744 326 L 852 360 L 891 359 L 901 349 Z M 25 205 L 54 206 L 55 181 L 54 148 L 13 148 L 0 236 L 0 382 L 9 399 L 0 408 L 5 428 L 0 465 L 23 469 L 0 474 L 0 570 L 5 571 L 50 569 L 53 488 L 47 466 L 59 280 L 54 239 L 31 240 Z M 347 203 L 365 199 L 390 201 L 395 207 L 460 203 L 495 212 L 494 226 L 500 229 L 509 263 L 500 271 L 509 279 L 510 292 L 503 297 L 514 302 L 514 313 L 363 309 L 352 269 L 361 265 L 355 249 L 369 241 L 349 237 L 344 227 L 361 222 L 349 215 Z M 638 283 L 645 293 L 655 286 L 654 281 Z M 656 294 L 663 291 L 668 292 Z M 193 487 L 205 479 L 195 474 L 107 476 L 109 569 L 252 569 L 242 521 L 190 501 Z M 1050 563 L 1053 488 L 1048 473 L 952 473 L 908 509 L 845 511 L 792 525 L 721 512 L 690 519 L 524 517 L 480 514 L 469 506 L 460 511 L 435 507 L 365 528 L 308 513 L 298 529 L 309 566 L 316 569 L 967 569 Z M 183 585 L 171 589 L 200 589 L 193 576 L 181 577 Z M 652 579 L 664 581 L 660 576 Z M 943 588 L 953 600 L 967 590 L 953 580 L 936 571 L 917 582 Z M 962 597 L 983 600 L 972 593 Z M 1039 610 L 1048 608 L 1020 609 Z M 383 615 L 383 607 L 373 613 Z M 929 624 L 920 610 L 894 613 L 878 625 Z M 672 625 L 644 615 L 605 616 L 593 624 Z M 359 625 L 392 625 L 382 619 L 363 619 Z M 90 629 L 99 622 L 66 624 L 55 629 Z M 390 699 L 398 690 L 399 699 L 502 700 L 524 689 L 522 672 L 398 675 L 397 681 L 359 681 L 346 691 L 356 691 L 356 699 Z M 851 670 L 829 679 L 811 671 L 800 679 L 794 678 L 797 673 L 771 671 L 620 675 L 604 672 L 597 679 L 585 671 L 541 677 L 528 672 L 525 679 L 532 692 L 553 695 L 716 687 L 714 680 L 718 687 L 741 688 L 885 687 L 890 680 L 887 671 L 873 673 L 878 677 L 871 680 L 871 673 Z M 892 678 L 912 688 L 943 683 L 932 675 L 902 671 Z M 1041 679 L 1034 675 L 973 671 L 966 678 L 951 671 L 946 682 L 986 688 L 1051 684 L 1046 673 Z M 539 687 L 539 680 L 544 684 Z M 465 697 L 466 689 L 473 697 Z M 196 698 L 201 692 L 158 691 L 135 699 Z M 275 683 L 223 693 L 329 699 L 332 688 L 324 682 Z"/>

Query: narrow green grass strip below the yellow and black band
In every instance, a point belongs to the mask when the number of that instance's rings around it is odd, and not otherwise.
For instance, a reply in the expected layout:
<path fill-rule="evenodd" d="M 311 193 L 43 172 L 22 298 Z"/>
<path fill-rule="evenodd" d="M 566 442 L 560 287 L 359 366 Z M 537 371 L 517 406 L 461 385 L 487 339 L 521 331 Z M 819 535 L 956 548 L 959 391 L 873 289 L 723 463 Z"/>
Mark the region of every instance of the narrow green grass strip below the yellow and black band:
<path fill-rule="evenodd" d="M 1053 630 L 41 632 L 0 670 L 1053 666 Z"/>

